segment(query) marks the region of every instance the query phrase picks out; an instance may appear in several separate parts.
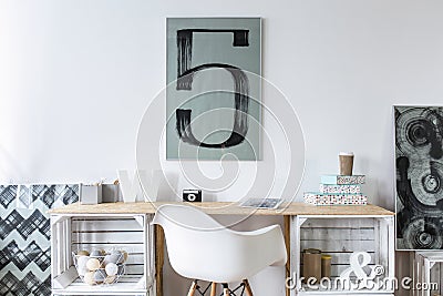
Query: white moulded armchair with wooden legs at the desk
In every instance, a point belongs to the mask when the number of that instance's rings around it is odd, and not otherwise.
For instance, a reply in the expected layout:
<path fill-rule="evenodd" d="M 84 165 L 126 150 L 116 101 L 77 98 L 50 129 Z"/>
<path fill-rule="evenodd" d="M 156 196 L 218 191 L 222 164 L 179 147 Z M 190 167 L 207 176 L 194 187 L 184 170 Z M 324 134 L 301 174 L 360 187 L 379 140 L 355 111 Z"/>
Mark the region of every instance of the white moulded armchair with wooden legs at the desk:
<path fill-rule="evenodd" d="M 198 279 L 212 283 L 210 296 L 215 296 L 216 283 L 223 284 L 224 295 L 229 296 L 228 283 L 238 282 L 253 296 L 247 278 L 287 261 L 279 225 L 236 232 L 193 206 L 169 204 L 158 207 L 153 224 L 165 232 L 172 267 L 194 279 L 188 296 L 195 294 Z"/>

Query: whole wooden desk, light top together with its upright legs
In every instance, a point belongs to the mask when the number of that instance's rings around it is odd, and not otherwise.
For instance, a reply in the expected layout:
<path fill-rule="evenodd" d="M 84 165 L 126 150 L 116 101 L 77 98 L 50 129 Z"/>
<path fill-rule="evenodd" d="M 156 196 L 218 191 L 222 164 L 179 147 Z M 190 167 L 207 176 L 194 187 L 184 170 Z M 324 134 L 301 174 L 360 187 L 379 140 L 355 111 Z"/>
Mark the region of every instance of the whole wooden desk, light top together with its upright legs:
<path fill-rule="evenodd" d="M 71 204 L 61 208 L 49 211 L 50 214 L 154 214 L 156 208 L 166 203 L 104 203 L 97 205 Z M 172 204 L 172 203 L 167 203 Z M 174 203 L 173 203 L 174 204 Z M 183 203 L 176 203 L 183 204 Z M 260 216 L 284 216 L 284 235 L 288 252 L 288 262 L 286 265 L 286 276 L 290 276 L 290 235 L 291 216 L 393 216 L 394 213 L 375 205 L 364 206 L 313 206 L 305 203 L 284 204 L 280 210 L 257 210 L 240 207 L 236 203 L 194 203 L 205 213 L 210 215 L 260 215 Z M 155 267 L 156 267 L 156 296 L 163 296 L 163 264 L 164 264 L 164 233 L 161 227 L 155 228 Z M 290 295 L 287 289 L 286 295 Z"/>

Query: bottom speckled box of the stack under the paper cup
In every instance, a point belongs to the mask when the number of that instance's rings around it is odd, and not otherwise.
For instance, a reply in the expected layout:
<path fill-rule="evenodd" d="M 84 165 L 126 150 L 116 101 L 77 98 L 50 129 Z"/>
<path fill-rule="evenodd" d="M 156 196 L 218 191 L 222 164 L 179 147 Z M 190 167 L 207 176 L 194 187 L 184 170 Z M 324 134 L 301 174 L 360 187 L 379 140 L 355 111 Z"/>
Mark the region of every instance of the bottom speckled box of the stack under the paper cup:
<path fill-rule="evenodd" d="M 368 197 L 363 194 L 324 194 L 306 192 L 305 202 L 311 205 L 365 205 Z"/>

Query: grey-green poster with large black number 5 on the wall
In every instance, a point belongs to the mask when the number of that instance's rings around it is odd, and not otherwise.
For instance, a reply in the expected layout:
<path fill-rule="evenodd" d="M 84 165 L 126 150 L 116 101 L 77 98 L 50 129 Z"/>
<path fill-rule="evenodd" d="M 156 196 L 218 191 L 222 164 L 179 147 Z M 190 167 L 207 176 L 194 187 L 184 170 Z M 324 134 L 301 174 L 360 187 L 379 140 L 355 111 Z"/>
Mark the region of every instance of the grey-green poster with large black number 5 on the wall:
<path fill-rule="evenodd" d="M 260 159 L 260 18 L 167 19 L 166 159 Z"/>

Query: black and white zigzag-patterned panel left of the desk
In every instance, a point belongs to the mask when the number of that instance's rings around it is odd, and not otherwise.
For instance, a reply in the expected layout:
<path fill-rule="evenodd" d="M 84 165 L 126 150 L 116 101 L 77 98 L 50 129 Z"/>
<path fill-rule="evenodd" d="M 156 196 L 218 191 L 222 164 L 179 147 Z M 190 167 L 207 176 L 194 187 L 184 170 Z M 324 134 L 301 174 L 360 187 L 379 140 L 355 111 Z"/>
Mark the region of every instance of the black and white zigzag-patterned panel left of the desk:
<path fill-rule="evenodd" d="M 78 201 L 78 184 L 0 185 L 0 295 L 51 295 L 47 212 Z"/>

